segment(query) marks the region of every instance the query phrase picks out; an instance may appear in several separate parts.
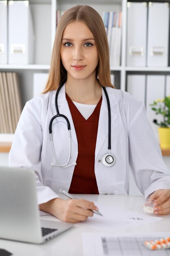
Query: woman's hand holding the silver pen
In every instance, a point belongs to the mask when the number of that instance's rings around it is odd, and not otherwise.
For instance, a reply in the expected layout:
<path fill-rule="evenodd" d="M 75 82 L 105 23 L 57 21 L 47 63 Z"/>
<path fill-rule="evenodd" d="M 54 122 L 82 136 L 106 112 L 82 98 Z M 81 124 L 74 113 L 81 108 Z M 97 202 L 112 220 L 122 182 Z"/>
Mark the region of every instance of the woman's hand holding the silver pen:
<path fill-rule="evenodd" d="M 40 204 L 40 210 L 49 212 L 64 222 L 76 223 L 92 217 L 93 211 L 91 210 L 98 211 L 98 208 L 93 202 L 84 199 L 55 198 Z"/>

